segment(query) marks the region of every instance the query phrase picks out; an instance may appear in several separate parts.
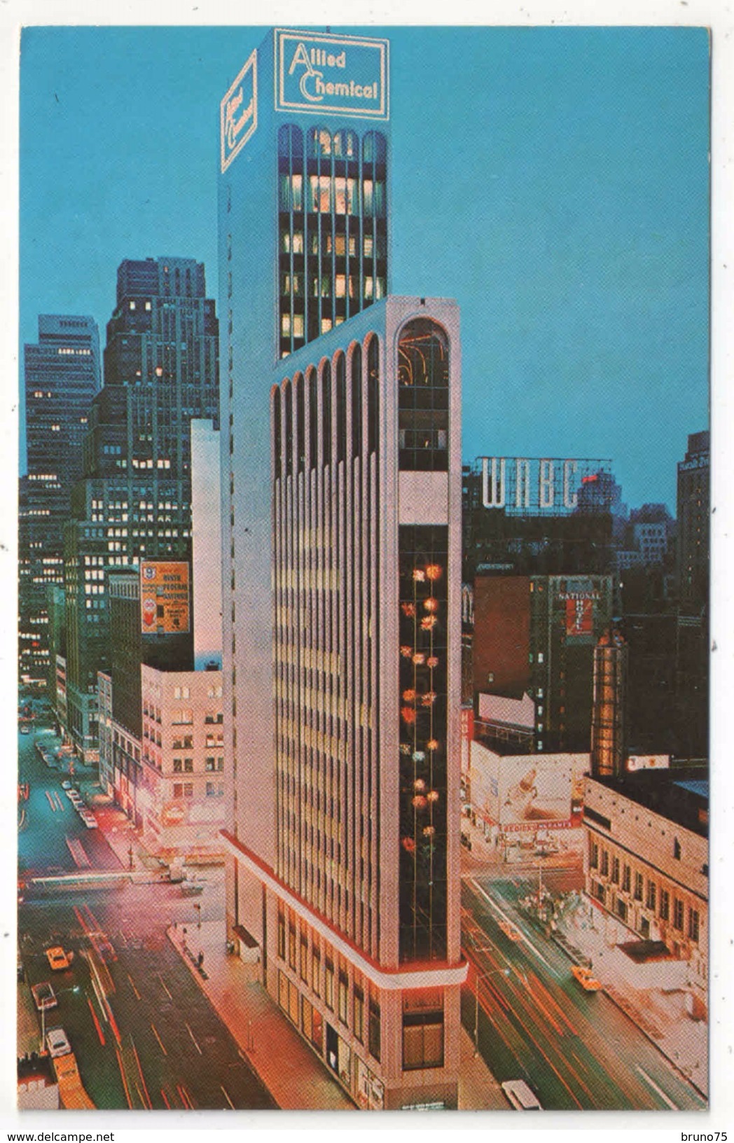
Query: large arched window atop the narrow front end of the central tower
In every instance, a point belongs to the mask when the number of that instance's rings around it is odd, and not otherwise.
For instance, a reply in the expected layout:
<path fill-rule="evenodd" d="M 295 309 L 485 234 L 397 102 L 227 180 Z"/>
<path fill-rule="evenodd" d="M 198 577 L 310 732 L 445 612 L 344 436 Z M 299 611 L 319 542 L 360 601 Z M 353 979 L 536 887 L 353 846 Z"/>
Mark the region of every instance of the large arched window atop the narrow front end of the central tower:
<path fill-rule="evenodd" d="M 434 321 L 416 318 L 398 342 L 399 466 L 448 470 L 448 338 Z"/>

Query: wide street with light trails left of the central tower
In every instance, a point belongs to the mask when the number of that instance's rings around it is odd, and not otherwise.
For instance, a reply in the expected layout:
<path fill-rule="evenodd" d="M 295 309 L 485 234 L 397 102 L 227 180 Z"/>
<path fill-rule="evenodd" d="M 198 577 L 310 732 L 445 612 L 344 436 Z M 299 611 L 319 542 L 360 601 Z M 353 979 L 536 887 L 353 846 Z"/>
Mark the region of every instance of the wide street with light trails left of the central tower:
<path fill-rule="evenodd" d="M 80 872 L 123 872 L 102 831 L 87 830 L 64 797 L 62 775 L 34 753 L 33 737 L 18 736 L 18 746 L 21 781 L 31 783 L 18 837 L 22 877 L 73 874 L 69 840 L 89 858 Z M 168 884 L 43 894 L 26 884 L 18 909 L 25 977 L 29 985 L 51 982 L 58 1005 L 46 1028 L 64 1028 L 97 1108 L 274 1106 L 166 936 L 171 924 L 193 928 L 223 916 L 220 870 L 208 871 L 197 905 Z M 51 972 L 45 956 L 55 944 L 74 953 L 63 972 Z"/>

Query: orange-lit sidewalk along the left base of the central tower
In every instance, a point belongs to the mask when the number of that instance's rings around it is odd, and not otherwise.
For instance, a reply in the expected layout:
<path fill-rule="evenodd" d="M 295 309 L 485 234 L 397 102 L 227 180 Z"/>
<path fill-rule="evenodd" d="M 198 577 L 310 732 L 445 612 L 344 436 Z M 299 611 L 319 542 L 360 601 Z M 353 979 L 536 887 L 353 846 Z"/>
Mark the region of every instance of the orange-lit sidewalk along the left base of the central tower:
<path fill-rule="evenodd" d="M 189 925 L 184 953 L 182 927 L 168 929 L 168 938 L 184 959 L 197 984 L 212 1001 L 237 1044 L 279 1108 L 285 1111 L 356 1111 L 341 1085 L 305 1045 L 256 978 L 258 966 L 225 951 L 222 921 Z M 204 952 L 199 974 L 196 960 Z"/>

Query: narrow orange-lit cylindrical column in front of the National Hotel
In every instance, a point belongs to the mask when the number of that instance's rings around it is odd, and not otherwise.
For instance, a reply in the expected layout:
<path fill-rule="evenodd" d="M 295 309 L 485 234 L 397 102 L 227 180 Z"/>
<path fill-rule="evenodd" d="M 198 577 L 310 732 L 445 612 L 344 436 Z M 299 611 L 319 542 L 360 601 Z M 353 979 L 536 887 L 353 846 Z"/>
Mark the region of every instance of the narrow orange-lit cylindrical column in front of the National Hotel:
<path fill-rule="evenodd" d="M 591 773 L 619 775 L 627 761 L 627 644 L 617 631 L 606 631 L 593 649 Z"/>

